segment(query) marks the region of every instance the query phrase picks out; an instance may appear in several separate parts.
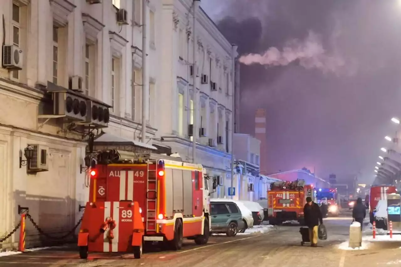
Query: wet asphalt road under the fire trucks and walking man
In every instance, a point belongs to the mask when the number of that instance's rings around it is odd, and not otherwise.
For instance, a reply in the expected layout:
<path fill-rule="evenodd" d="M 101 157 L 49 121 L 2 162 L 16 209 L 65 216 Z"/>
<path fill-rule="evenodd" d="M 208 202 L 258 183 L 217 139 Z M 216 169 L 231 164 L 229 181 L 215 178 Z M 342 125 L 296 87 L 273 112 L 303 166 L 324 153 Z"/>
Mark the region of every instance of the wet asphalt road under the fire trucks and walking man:
<path fill-rule="evenodd" d="M 319 247 L 301 246 L 299 226 L 275 227 L 265 234 L 214 236 L 206 246 L 185 243 L 181 251 L 145 253 L 142 259 L 132 255 L 92 253 L 81 260 L 71 250 L 48 250 L 0 258 L 0 267 L 62 266 L 158 266 L 158 267 L 367 267 L 400 266 L 401 242 L 378 243 L 367 250 L 346 251 L 338 244 L 348 239 L 350 217 L 325 219 L 328 239 Z"/>

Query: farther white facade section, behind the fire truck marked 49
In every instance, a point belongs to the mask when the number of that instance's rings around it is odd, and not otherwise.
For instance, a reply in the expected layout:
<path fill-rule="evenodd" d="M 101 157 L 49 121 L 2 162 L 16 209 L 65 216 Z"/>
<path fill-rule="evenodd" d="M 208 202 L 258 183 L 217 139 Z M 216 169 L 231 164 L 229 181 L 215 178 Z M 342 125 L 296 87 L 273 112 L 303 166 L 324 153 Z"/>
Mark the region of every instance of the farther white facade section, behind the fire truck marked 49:
<path fill-rule="evenodd" d="M 231 184 L 232 78 L 237 52 L 201 8 L 196 8 L 194 36 L 193 2 L 163 1 L 160 57 L 163 90 L 158 96 L 160 123 L 155 142 L 170 146 L 184 161 L 202 164 L 209 176 L 219 180 L 220 186 L 211 196 L 224 197 Z M 196 136 L 195 159 L 193 136 Z"/>

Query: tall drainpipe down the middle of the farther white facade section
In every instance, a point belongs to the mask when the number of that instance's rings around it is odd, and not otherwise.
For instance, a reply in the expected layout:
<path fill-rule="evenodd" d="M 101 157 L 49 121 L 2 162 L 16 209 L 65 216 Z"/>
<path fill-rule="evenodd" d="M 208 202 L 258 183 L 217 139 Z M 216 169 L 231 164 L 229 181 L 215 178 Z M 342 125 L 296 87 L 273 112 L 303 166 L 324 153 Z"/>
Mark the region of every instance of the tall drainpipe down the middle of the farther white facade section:
<path fill-rule="evenodd" d="M 201 4 L 200 0 L 194 0 L 194 13 L 193 13 L 193 30 L 192 34 L 194 36 L 194 42 L 192 47 L 192 61 L 193 61 L 193 101 L 194 101 L 194 125 L 192 126 L 192 163 L 196 163 L 196 140 L 198 139 L 198 92 L 196 91 L 196 76 L 198 75 L 198 71 L 196 70 L 196 11 L 199 8 L 199 4 Z"/>

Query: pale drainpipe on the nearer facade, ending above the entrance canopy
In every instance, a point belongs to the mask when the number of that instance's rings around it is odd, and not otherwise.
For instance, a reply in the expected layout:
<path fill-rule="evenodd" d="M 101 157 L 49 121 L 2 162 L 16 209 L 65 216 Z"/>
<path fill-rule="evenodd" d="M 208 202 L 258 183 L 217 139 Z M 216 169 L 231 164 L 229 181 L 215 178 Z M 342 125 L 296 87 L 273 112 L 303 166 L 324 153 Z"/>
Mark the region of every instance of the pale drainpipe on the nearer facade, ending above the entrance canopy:
<path fill-rule="evenodd" d="M 149 83 L 148 83 L 148 64 L 146 57 L 148 55 L 147 45 L 147 20 L 148 20 L 148 0 L 142 3 L 142 133 L 141 142 L 146 143 L 146 113 L 149 105 Z"/>

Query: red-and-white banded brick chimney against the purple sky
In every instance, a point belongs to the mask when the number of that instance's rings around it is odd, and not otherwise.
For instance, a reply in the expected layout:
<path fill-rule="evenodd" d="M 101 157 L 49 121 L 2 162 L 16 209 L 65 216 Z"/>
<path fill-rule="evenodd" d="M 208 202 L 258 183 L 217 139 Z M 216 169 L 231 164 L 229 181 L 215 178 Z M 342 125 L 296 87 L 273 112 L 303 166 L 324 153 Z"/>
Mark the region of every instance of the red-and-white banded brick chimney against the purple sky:
<path fill-rule="evenodd" d="M 260 173 L 267 175 L 266 110 L 257 109 L 255 115 L 255 138 L 260 141 Z"/>

